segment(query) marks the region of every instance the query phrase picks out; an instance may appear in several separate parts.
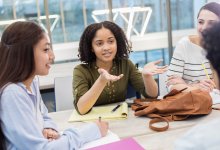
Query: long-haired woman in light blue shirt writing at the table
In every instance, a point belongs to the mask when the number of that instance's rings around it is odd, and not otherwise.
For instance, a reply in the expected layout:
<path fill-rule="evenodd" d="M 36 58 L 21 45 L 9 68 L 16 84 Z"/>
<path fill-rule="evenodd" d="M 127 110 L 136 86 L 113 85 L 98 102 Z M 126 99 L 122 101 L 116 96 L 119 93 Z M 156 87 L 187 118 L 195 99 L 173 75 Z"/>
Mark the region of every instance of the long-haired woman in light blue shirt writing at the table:
<path fill-rule="evenodd" d="M 48 117 L 36 75 L 47 75 L 54 54 L 46 32 L 34 22 L 15 22 L 0 43 L 0 149 L 73 150 L 105 136 L 106 122 L 69 128 L 60 135 Z"/>

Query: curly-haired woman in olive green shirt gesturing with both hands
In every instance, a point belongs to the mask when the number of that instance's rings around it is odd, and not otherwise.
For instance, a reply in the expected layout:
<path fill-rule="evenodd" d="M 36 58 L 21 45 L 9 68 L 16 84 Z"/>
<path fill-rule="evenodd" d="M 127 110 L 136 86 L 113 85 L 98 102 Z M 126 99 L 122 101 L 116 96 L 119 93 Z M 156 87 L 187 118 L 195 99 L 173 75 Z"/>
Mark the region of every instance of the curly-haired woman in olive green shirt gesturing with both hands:
<path fill-rule="evenodd" d="M 79 43 L 79 59 L 74 68 L 74 105 L 80 114 L 94 105 L 124 101 L 128 83 L 144 97 L 157 97 L 158 86 L 153 75 L 166 71 L 155 61 L 144 66 L 142 73 L 128 59 L 131 47 L 123 30 L 104 21 L 89 25 Z"/>

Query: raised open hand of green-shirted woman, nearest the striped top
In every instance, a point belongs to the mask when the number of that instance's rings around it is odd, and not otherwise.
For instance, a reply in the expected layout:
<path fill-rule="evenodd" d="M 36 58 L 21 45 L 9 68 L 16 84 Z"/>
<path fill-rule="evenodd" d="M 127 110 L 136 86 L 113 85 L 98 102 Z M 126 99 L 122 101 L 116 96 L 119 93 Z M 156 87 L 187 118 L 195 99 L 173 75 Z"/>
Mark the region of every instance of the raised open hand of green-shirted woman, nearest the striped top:
<path fill-rule="evenodd" d="M 163 60 L 157 60 L 157 61 L 153 61 L 150 62 L 148 64 L 146 64 L 143 68 L 142 74 L 143 75 L 147 75 L 147 76 L 153 76 L 156 74 L 161 74 L 167 71 L 168 66 L 158 66 L 159 63 L 161 63 Z"/>

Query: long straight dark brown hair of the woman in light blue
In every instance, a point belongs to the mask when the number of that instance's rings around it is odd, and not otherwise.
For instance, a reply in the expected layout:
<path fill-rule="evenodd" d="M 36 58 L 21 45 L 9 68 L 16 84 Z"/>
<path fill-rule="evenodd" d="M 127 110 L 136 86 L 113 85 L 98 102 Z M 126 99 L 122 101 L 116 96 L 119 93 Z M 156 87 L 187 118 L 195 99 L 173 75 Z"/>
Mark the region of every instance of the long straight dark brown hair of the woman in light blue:
<path fill-rule="evenodd" d="M 35 69 L 34 46 L 43 33 L 38 24 L 29 21 L 12 23 L 4 30 L 0 42 L 0 90 L 7 83 L 22 82 L 31 76 Z M 5 149 L 1 127 L 0 149 Z"/>

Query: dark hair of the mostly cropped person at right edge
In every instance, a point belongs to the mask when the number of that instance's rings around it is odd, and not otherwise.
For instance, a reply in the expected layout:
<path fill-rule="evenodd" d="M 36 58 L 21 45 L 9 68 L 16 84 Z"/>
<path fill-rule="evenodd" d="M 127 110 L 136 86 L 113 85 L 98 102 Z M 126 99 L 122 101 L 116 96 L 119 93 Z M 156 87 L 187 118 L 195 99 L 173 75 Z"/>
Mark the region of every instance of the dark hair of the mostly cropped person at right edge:
<path fill-rule="evenodd" d="M 202 33 L 202 45 L 207 52 L 207 59 L 220 77 L 220 22 Z"/>

